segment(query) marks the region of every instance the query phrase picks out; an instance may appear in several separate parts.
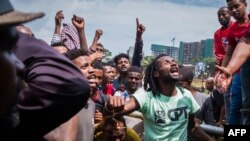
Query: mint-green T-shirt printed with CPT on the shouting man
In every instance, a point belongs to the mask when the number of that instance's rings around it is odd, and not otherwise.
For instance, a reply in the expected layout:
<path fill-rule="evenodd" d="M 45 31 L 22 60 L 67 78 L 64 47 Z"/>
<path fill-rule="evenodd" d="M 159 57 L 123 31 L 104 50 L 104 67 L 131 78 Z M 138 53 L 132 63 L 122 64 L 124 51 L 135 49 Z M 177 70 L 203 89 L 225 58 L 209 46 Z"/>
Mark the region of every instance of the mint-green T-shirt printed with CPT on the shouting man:
<path fill-rule="evenodd" d="M 200 106 L 190 91 L 179 88 L 175 96 L 153 96 L 152 92 L 138 92 L 133 96 L 144 117 L 145 141 L 187 140 L 188 117 Z"/>

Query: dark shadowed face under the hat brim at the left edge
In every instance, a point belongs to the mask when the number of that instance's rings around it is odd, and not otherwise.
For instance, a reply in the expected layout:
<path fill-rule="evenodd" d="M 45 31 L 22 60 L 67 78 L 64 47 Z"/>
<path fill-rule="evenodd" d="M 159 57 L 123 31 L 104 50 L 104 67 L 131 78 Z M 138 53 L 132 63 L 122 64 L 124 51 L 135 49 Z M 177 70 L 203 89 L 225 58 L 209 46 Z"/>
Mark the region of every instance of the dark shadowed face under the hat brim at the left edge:
<path fill-rule="evenodd" d="M 24 64 L 11 51 L 18 38 L 15 28 L 0 29 L 0 35 L 5 35 L 5 39 L 0 38 L 0 103 L 3 105 L 0 106 L 0 116 L 2 117 L 16 102 L 23 82 Z"/>

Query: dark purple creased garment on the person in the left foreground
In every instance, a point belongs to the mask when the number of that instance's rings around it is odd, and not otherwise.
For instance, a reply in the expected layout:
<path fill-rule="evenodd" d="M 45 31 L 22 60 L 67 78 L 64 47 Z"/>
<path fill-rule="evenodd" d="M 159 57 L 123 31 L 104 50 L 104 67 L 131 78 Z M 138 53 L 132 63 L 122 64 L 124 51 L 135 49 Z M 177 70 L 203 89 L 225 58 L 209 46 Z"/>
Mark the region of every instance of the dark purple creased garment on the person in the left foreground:
<path fill-rule="evenodd" d="M 86 104 L 90 89 L 81 72 L 43 41 L 20 34 L 14 52 L 26 65 L 25 80 L 28 83 L 18 106 L 22 122 L 17 134 L 26 139 L 28 134 L 32 139 L 78 112 Z M 34 133 L 37 127 L 39 131 Z"/>

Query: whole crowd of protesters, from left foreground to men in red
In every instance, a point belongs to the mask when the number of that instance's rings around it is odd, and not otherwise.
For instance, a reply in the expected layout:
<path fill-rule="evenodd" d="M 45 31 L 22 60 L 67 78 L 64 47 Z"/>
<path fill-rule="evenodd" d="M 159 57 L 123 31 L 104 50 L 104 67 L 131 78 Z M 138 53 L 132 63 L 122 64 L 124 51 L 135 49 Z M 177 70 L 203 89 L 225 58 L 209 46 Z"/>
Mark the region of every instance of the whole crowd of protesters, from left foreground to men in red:
<path fill-rule="evenodd" d="M 102 29 L 91 45 L 85 19 L 63 23 L 55 14 L 51 43 L 23 25 L 44 13 L 15 11 L 0 2 L 0 140 L 211 141 L 199 125 L 250 123 L 250 26 L 246 0 L 218 9 L 214 77 L 204 91 L 192 85 L 192 68 L 167 54 L 141 67 L 145 26 L 136 18 L 134 54 L 104 62 Z M 235 22 L 231 20 L 231 16 Z"/>

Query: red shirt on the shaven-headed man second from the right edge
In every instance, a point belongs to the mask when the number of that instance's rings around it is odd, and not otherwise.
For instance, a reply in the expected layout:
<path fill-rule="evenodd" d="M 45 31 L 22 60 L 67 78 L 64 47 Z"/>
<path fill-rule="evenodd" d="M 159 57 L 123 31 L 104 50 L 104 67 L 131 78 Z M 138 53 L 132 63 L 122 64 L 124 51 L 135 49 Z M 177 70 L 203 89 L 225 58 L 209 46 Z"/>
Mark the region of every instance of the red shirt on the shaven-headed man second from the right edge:
<path fill-rule="evenodd" d="M 226 54 L 227 51 L 227 34 L 229 31 L 229 28 L 233 25 L 233 22 L 230 23 L 230 25 L 227 28 L 219 28 L 214 33 L 214 55 L 219 62 L 219 65 L 221 65 L 222 60 Z"/>

